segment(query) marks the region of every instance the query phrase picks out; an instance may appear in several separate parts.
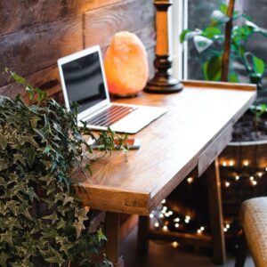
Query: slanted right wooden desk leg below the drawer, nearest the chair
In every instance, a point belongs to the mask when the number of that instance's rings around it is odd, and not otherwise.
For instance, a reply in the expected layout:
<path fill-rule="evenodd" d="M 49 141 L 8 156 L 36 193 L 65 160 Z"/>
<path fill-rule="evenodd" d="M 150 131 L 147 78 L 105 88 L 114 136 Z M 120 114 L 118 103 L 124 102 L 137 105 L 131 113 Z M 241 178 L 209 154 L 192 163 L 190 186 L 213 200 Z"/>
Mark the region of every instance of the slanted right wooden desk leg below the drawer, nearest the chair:
<path fill-rule="evenodd" d="M 213 260 L 215 264 L 223 264 L 226 260 L 225 240 L 223 231 L 223 204 L 219 162 L 214 163 L 206 170 L 209 216 L 213 237 Z"/>

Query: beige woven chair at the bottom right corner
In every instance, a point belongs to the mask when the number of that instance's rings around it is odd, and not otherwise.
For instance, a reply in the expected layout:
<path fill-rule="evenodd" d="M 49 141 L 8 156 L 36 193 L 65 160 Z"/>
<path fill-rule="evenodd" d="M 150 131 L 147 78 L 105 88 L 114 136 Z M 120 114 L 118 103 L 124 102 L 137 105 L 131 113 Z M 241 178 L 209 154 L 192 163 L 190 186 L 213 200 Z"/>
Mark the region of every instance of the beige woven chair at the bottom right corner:
<path fill-rule="evenodd" d="M 235 266 L 244 266 L 248 248 L 255 266 L 267 267 L 267 198 L 243 202 L 240 218 L 243 234 Z"/>

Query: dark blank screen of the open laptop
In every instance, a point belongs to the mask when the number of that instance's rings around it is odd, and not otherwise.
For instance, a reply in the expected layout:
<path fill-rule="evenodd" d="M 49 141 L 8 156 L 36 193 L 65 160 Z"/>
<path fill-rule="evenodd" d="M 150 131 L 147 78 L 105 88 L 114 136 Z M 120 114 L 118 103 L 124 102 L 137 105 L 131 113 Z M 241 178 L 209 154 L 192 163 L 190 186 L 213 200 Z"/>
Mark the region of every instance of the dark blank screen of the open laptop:
<path fill-rule="evenodd" d="M 107 99 L 98 52 L 62 64 L 61 67 L 69 103 L 77 102 L 79 113 Z"/>

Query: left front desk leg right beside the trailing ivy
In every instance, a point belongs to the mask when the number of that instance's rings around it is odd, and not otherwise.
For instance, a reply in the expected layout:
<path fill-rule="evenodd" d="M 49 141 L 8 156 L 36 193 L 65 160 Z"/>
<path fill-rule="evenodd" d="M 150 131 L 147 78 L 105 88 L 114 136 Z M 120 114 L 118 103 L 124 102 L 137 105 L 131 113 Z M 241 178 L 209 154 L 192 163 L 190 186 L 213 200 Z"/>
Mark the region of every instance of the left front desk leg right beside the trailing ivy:
<path fill-rule="evenodd" d="M 116 267 L 123 267 L 123 257 L 119 257 L 119 214 L 106 213 L 106 237 L 108 239 L 106 245 L 106 253 L 109 260 Z"/>

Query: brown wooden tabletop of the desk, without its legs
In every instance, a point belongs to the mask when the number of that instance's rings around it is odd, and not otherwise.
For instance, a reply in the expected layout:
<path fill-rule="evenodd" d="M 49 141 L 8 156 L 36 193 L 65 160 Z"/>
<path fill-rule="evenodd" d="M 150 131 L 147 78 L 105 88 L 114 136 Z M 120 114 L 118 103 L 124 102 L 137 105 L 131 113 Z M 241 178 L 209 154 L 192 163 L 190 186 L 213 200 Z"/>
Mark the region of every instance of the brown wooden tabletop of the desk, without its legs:
<path fill-rule="evenodd" d="M 182 93 L 149 94 L 120 102 L 166 107 L 167 113 L 134 135 L 140 150 L 114 152 L 93 163 L 90 182 L 77 194 L 86 206 L 118 213 L 147 215 L 198 166 L 199 157 L 223 129 L 234 124 L 255 100 L 255 91 L 186 86 Z M 218 87 L 218 88 L 217 88 Z M 242 111 L 242 112 L 241 112 Z M 226 144 L 225 144 L 226 145 Z M 209 156 L 212 155 L 212 156 Z M 201 158 L 200 157 L 200 158 Z M 206 157 L 214 157 L 207 153 Z M 214 159 L 214 158 L 213 158 Z M 208 158 L 210 160 L 210 158 Z M 81 181 L 82 174 L 74 179 Z"/>

